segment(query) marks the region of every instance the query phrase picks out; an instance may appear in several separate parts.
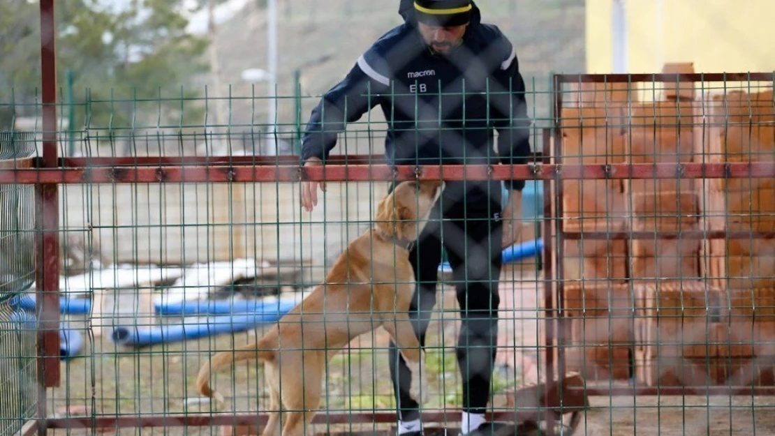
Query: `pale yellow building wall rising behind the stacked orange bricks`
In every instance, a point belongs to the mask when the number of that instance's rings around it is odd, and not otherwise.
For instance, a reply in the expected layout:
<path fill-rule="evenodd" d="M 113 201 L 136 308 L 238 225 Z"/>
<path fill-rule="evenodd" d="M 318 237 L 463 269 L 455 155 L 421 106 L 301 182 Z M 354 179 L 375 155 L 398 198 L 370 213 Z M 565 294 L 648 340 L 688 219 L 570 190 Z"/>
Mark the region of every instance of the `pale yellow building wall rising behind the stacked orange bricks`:
<path fill-rule="evenodd" d="M 587 73 L 613 70 L 611 3 L 587 0 Z M 694 62 L 698 73 L 775 70 L 775 0 L 627 0 L 628 71 Z M 658 18 L 661 16 L 661 32 Z"/>

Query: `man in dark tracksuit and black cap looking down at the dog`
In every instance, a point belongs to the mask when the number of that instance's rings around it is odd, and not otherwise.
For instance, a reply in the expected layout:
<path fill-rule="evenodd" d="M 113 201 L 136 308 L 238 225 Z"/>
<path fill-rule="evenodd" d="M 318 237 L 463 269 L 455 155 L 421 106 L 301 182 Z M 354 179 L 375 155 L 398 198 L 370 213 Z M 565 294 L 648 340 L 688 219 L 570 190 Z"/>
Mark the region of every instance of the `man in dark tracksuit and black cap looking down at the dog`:
<path fill-rule="evenodd" d="M 324 164 L 346 123 L 377 105 L 388 123 L 389 163 L 525 163 L 530 153 L 525 83 L 508 39 L 496 26 L 480 22 L 471 0 L 402 0 L 399 13 L 405 22 L 370 46 L 312 111 L 302 138 L 305 166 Z M 525 182 L 505 184 L 511 191 L 504 205 L 498 181 L 447 181 L 410 252 L 418 282 L 412 318 L 423 346 L 436 303 L 442 247 L 453 269 L 462 318 L 456 357 L 463 382 L 463 434 L 514 434 L 484 418 L 498 336 L 501 252 L 517 238 L 521 223 L 515 218 L 521 214 Z M 325 191 L 325 184 L 302 184 L 307 211 L 317 204 L 319 187 Z M 390 359 L 398 433 L 422 435 L 418 403 L 408 393 L 412 375 L 393 343 Z"/>

